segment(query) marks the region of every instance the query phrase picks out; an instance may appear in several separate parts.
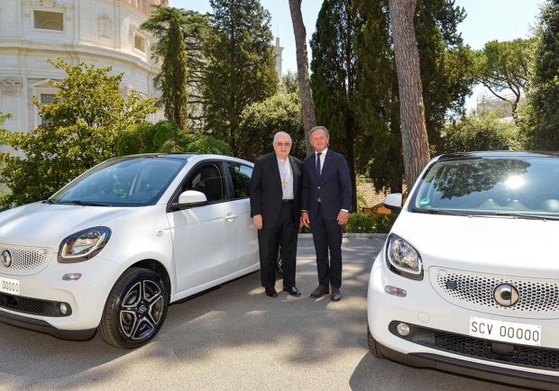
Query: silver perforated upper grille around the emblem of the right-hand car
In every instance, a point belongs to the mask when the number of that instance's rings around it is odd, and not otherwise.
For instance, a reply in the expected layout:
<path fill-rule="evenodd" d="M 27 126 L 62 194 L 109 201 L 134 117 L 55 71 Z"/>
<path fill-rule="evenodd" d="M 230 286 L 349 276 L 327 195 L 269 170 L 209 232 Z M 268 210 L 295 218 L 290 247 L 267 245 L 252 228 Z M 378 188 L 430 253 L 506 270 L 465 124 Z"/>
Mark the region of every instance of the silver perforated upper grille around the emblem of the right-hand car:
<path fill-rule="evenodd" d="M 451 268 L 429 268 L 431 285 L 446 301 L 490 314 L 505 314 L 523 318 L 559 318 L 559 281 L 545 278 L 507 277 L 465 272 Z M 500 284 L 518 289 L 516 305 L 499 305 L 493 291 Z"/>

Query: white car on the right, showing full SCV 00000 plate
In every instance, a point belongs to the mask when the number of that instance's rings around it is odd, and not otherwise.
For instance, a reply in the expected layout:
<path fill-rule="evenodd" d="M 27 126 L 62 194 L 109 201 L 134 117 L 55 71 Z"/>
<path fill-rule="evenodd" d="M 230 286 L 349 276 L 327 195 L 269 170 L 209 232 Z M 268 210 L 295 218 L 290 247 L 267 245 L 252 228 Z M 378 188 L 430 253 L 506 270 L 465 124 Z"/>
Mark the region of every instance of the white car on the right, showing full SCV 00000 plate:
<path fill-rule="evenodd" d="M 378 358 L 559 389 L 559 155 L 443 155 L 424 169 L 374 260 Z"/>

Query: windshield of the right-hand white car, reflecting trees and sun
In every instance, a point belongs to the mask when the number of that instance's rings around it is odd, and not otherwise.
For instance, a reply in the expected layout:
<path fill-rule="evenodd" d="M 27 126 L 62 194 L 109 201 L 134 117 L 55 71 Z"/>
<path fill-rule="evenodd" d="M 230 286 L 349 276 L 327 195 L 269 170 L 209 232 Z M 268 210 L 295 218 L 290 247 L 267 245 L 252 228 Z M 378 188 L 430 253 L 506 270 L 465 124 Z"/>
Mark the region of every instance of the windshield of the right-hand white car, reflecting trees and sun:
<path fill-rule="evenodd" d="M 474 157 L 435 162 L 410 199 L 410 211 L 559 218 L 559 159 Z"/>

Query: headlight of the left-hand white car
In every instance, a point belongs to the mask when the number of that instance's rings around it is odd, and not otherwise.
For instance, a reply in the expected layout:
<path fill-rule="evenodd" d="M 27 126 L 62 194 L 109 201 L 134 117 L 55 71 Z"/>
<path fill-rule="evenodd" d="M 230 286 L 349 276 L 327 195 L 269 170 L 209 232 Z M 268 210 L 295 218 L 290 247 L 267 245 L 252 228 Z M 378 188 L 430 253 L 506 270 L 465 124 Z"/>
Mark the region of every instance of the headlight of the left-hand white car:
<path fill-rule="evenodd" d="M 60 243 L 59 262 L 75 263 L 95 257 L 111 237 L 107 227 L 87 228 L 73 233 Z"/>

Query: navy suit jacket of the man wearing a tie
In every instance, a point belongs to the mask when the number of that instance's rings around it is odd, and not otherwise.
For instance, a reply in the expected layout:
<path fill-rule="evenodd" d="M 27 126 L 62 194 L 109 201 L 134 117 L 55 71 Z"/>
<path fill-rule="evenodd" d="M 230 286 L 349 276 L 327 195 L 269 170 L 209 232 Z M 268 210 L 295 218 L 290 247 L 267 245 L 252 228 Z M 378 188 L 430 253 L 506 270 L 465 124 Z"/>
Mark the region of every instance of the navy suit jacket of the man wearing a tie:
<path fill-rule="evenodd" d="M 344 155 L 334 150 L 326 151 L 320 177 L 316 177 L 316 154 L 303 162 L 303 190 L 301 210 L 307 211 L 311 221 L 320 208 L 326 220 L 333 221 L 341 209 L 351 210 L 352 179 Z"/>

